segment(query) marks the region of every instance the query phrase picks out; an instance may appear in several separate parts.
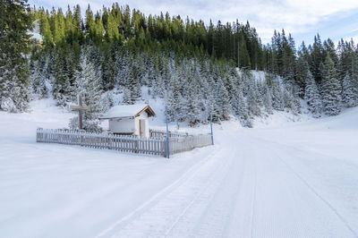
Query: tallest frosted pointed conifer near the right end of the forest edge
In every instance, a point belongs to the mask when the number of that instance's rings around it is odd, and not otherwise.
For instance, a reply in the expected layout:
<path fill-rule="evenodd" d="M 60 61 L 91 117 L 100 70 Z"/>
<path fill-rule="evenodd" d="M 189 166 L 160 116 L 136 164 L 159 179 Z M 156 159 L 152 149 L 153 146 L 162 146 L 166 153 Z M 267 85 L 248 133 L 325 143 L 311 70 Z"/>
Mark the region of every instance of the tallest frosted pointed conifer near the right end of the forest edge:
<path fill-rule="evenodd" d="M 341 111 L 341 85 L 337 80 L 335 64 L 326 57 L 322 75 L 322 104 L 326 115 L 338 115 Z"/>

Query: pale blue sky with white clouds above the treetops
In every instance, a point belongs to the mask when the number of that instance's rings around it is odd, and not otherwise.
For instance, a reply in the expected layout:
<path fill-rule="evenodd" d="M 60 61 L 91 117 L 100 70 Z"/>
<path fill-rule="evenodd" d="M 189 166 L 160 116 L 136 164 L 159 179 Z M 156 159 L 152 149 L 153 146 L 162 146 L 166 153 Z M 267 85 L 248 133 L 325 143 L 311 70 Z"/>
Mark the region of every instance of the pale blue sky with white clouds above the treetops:
<path fill-rule="evenodd" d="M 29 0 L 29 4 L 51 8 L 67 4 L 80 4 L 82 10 L 90 4 L 92 10 L 111 6 L 109 0 Z M 331 38 L 337 42 L 340 38 L 354 38 L 358 43 L 358 0 L 132 0 L 119 1 L 120 5 L 129 4 L 147 16 L 170 13 L 170 15 L 189 16 L 194 20 L 213 22 L 250 21 L 263 43 L 270 42 L 274 30 L 285 29 L 291 32 L 296 46 L 304 40 L 311 44 L 314 35 L 320 33 L 321 39 Z"/>

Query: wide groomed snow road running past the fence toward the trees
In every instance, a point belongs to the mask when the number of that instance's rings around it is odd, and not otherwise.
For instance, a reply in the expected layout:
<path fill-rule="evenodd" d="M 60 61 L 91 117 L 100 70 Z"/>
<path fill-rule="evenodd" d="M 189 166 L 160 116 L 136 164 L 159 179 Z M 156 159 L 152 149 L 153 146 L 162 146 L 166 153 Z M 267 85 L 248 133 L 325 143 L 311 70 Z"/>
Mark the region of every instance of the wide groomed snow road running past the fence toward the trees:
<path fill-rule="evenodd" d="M 356 220 L 348 221 L 290 165 L 310 151 L 297 155 L 251 132 L 228 139 L 230 146 L 98 236 L 357 237 Z"/>

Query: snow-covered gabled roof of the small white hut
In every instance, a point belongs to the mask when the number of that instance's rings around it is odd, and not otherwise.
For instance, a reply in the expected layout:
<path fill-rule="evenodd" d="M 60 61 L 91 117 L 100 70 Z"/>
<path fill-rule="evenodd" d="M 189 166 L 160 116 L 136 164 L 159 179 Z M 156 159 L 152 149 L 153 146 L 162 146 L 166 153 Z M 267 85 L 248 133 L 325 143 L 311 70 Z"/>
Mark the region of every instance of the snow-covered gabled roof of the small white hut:
<path fill-rule="evenodd" d="M 109 109 L 107 114 L 101 117 L 100 119 L 132 117 L 132 116 L 141 115 L 142 112 L 146 112 L 148 116 L 156 115 L 153 109 L 146 104 L 118 105 L 118 106 L 113 106 L 111 109 Z"/>

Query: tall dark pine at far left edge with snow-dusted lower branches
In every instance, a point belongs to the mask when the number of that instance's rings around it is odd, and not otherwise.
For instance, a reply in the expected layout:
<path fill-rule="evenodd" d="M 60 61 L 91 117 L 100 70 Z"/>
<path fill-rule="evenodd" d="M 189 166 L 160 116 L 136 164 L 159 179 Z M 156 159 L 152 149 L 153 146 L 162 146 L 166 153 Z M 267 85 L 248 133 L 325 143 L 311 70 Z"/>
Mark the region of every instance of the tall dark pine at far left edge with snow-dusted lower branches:
<path fill-rule="evenodd" d="M 0 109 L 22 112 L 30 101 L 30 14 L 26 1 L 0 2 Z"/>

